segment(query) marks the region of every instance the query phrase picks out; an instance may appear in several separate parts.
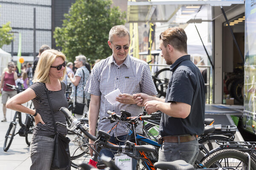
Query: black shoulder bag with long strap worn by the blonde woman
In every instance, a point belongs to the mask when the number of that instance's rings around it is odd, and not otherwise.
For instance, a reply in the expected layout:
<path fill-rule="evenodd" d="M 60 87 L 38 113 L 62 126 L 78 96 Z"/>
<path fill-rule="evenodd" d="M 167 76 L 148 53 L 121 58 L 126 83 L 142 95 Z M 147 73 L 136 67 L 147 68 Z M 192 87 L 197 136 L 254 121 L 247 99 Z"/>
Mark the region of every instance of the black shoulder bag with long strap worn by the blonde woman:
<path fill-rule="evenodd" d="M 46 88 L 45 83 L 44 83 L 44 87 L 46 89 L 46 94 L 49 100 L 49 106 L 51 108 L 52 120 L 53 120 L 54 129 L 55 129 L 54 157 L 52 160 L 51 167 L 54 169 L 60 169 L 60 170 L 70 170 L 71 169 L 71 159 L 70 159 L 70 150 L 69 150 L 70 139 L 68 137 L 65 137 L 64 135 L 61 135 L 61 133 L 57 132 L 56 122 L 53 116 L 51 100 L 50 100 L 48 89 Z"/>

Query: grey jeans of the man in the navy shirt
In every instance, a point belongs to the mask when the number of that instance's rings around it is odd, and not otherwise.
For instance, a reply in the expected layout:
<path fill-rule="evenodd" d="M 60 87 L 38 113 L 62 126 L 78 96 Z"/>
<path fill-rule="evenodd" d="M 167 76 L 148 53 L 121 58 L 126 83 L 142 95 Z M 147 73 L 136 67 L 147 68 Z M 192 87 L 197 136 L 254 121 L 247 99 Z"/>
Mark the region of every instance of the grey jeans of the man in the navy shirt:
<path fill-rule="evenodd" d="M 197 139 L 181 143 L 164 142 L 159 149 L 158 161 L 176 161 L 181 159 L 193 165 L 198 153 Z"/>

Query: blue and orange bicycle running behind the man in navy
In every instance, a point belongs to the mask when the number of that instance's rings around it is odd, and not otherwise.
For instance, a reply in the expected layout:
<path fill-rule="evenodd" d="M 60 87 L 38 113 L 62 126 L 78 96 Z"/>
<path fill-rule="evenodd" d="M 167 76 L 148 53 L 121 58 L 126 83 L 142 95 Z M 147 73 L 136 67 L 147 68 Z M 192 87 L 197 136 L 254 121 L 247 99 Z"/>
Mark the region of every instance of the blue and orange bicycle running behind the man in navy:
<path fill-rule="evenodd" d="M 121 111 L 122 113 L 125 113 L 127 114 L 128 112 L 125 112 L 125 111 Z M 120 123 L 120 120 L 123 120 L 124 122 L 126 123 L 131 123 L 131 125 L 136 125 L 137 124 L 137 121 L 141 120 L 141 116 L 138 116 L 138 117 L 129 117 L 129 114 L 128 116 L 119 116 L 119 115 L 116 115 L 116 113 L 113 113 L 113 112 L 109 112 L 111 113 L 112 115 L 110 116 L 112 121 L 114 121 L 116 118 L 119 119 L 119 122 Z M 123 117 L 123 119 L 122 119 Z M 125 119 L 126 117 L 126 119 Z M 149 118 L 149 117 L 148 117 Z M 134 133 L 134 128 L 131 129 L 130 131 L 131 135 L 135 135 L 137 141 L 142 141 L 146 144 L 151 144 L 153 145 L 154 147 L 160 147 L 159 144 L 157 144 L 157 142 L 155 141 L 152 141 L 151 139 L 147 139 L 146 137 L 144 136 L 141 136 L 137 133 Z M 216 141 L 215 141 L 216 142 Z M 137 143 L 138 144 L 138 143 Z M 230 164 L 220 164 L 218 161 L 225 161 L 225 162 L 228 162 L 228 160 L 232 160 L 232 161 L 236 161 L 238 162 L 238 166 L 236 166 L 236 168 L 240 168 L 239 165 L 243 165 L 243 167 L 248 167 L 248 164 L 250 163 L 251 164 L 251 167 L 256 168 L 256 164 L 255 162 L 253 161 L 254 160 L 254 155 L 253 155 L 253 160 L 248 162 L 247 161 L 247 155 L 246 155 L 246 152 L 241 152 L 239 150 L 225 150 L 225 148 L 223 147 L 218 147 L 214 150 L 207 150 L 206 147 L 204 147 L 203 144 L 199 144 L 199 155 L 203 155 L 202 157 L 200 157 L 198 155 L 197 159 L 196 159 L 196 162 L 195 162 L 195 167 L 197 168 L 206 168 L 205 165 L 207 166 L 211 166 L 212 164 L 215 165 L 215 167 L 225 167 L 225 168 L 230 168 Z M 234 148 L 233 148 L 234 149 Z M 202 150 L 204 152 L 202 152 Z M 205 153 L 205 154 L 204 154 Z M 218 154 L 218 153 L 223 153 L 223 154 Z M 154 156 L 152 156 L 154 155 Z M 215 155 L 214 158 L 212 159 L 207 159 L 209 158 L 209 156 L 212 156 L 212 155 Z M 146 153 L 145 154 L 145 157 L 146 159 L 148 159 L 150 161 L 151 164 L 143 164 L 143 166 L 146 168 L 146 169 L 154 169 L 155 167 L 153 166 L 152 163 L 154 163 L 154 161 L 157 161 L 156 158 L 157 158 L 158 154 L 157 152 L 154 152 L 153 154 L 148 154 Z M 207 164 L 207 162 L 209 162 L 209 160 L 211 160 L 211 164 L 209 165 L 209 163 Z M 142 162 L 143 163 L 143 162 Z M 235 166 L 235 165 L 234 165 Z M 232 168 L 232 167 L 231 167 Z"/>

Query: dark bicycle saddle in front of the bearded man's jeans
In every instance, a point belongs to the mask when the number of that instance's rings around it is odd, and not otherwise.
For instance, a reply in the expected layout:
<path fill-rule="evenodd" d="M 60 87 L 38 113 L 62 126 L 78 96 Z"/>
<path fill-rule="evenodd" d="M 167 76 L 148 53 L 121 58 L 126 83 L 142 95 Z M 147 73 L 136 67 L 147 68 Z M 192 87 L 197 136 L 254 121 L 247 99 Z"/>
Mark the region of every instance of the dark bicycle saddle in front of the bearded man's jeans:
<path fill-rule="evenodd" d="M 162 169 L 162 170 L 194 170 L 195 168 L 186 163 L 183 160 L 171 161 L 171 162 L 156 162 L 154 163 L 154 167 Z"/>

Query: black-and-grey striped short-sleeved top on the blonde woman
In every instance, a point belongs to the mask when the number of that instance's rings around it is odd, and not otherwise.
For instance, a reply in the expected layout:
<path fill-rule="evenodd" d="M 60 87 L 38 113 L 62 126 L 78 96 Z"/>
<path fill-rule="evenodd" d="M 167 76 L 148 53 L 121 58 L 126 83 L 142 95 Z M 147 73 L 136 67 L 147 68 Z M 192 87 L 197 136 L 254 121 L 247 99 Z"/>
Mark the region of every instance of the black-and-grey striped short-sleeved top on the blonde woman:
<path fill-rule="evenodd" d="M 46 94 L 46 89 L 44 87 L 44 83 L 35 82 L 29 88 L 35 91 L 36 97 L 32 99 L 33 105 L 35 109 L 40 113 L 44 125 L 38 123 L 38 125 L 34 128 L 34 134 L 37 135 L 54 135 L 54 125 L 52 120 L 52 113 L 49 107 L 49 101 Z M 61 90 L 60 91 L 49 91 L 48 94 L 52 104 L 52 110 L 55 122 L 61 122 L 66 124 L 66 118 L 63 113 L 61 113 L 61 107 L 68 107 L 68 102 L 65 96 L 66 85 L 64 82 L 61 82 Z M 57 131 L 61 134 L 67 134 L 67 128 L 57 125 Z"/>

